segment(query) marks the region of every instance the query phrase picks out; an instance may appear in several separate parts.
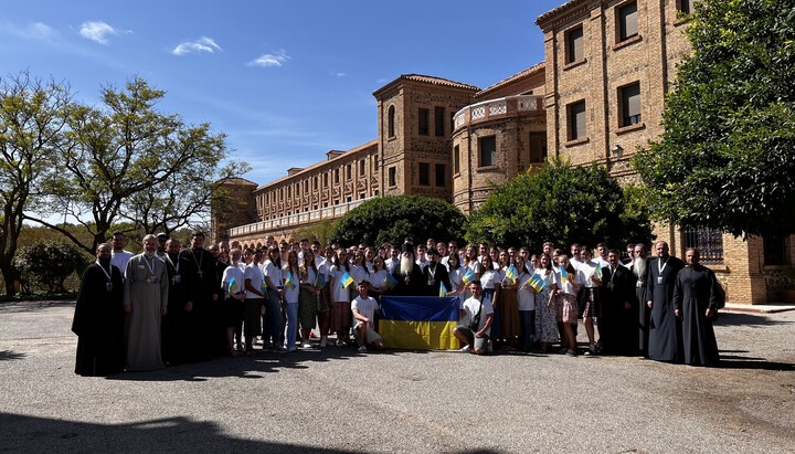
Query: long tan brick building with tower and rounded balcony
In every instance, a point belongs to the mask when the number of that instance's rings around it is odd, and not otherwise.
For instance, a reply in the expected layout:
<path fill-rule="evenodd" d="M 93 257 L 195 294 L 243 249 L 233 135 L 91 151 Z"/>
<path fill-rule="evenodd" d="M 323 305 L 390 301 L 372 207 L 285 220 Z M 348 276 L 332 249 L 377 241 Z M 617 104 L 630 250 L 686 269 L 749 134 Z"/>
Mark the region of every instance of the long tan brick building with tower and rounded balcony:
<path fill-rule="evenodd" d="M 665 95 L 690 51 L 682 12 L 691 3 L 569 1 L 537 19 L 544 62 L 485 89 L 416 74 L 395 78 L 373 93 L 374 140 L 329 151 L 324 161 L 251 190 L 256 210 L 229 235 L 245 245 L 268 235 L 295 240 L 299 229 L 381 194 L 437 197 L 468 213 L 496 184 L 548 157 L 604 165 L 634 182 L 629 159 L 661 133 Z M 220 223 L 213 226 L 221 235 Z M 731 302 L 776 300 L 792 283 L 793 236 L 743 241 L 672 225 L 658 225 L 656 234 L 678 256 L 699 247 Z"/>

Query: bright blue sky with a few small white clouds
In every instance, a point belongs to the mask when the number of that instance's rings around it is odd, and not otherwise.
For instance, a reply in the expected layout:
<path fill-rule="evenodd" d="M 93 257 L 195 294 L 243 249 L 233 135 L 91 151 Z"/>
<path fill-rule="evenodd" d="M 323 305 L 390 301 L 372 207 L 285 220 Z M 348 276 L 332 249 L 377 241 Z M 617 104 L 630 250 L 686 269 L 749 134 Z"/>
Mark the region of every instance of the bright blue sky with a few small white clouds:
<path fill-rule="evenodd" d="M 141 76 L 167 92 L 162 113 L 226 134 L 262 184 L 375 138 L 372 92 L 401 74 L 487 87 L 541 62 L 536 18 L 563 2 L 4 1 L 0 75 L 88 104 Z"/>

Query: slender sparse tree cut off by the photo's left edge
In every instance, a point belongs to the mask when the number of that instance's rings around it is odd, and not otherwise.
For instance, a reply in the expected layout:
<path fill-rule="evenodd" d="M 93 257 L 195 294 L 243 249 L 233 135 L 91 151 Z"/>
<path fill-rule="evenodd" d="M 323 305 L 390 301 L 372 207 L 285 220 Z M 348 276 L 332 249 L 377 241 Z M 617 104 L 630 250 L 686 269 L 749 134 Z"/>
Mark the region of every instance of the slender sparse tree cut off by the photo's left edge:
<path fill-rule="evenodd" d="M 0 271 L 15 293 L 13 266 L 25 210 L 39 200 L 42 176 L 64 140 L 68 87 L 23 72 L 0 78 Z"/>

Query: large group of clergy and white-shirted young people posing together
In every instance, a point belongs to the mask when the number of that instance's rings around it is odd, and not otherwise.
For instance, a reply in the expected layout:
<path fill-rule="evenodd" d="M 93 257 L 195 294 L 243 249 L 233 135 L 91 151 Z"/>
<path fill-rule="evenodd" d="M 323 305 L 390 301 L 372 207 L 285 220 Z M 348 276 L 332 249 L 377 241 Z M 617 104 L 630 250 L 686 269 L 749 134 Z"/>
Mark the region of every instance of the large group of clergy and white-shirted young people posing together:
<path fill-rule="evenodd" d="M 459 296 L 453 335 L 462 351 L 560 348 L 570 356 L 718 362 L 712 321 L 723 305 L 720 284 L 699 264 L 698 251 L 687 251 L 686 264 L 665 242 L 655 244 L 653 258 L 644 244 L 622 254 L 605 244 L 592 253 L 548 242 L 532 253 L 411 237 L 378 247 L 268 237 L 259 249 L 225 241 L 204 249 L 197 232 L 188 247 L 165 234 L 147 235 L 142 244 L 134 255 L 115 233 L 85 271 L 72 328 L 76 373 L 156 370 L 257 350 L 289 353 L 298 346 L 383 349 L 382 295 Z M 582 351 L 580 326 L 587 336 Z"/>

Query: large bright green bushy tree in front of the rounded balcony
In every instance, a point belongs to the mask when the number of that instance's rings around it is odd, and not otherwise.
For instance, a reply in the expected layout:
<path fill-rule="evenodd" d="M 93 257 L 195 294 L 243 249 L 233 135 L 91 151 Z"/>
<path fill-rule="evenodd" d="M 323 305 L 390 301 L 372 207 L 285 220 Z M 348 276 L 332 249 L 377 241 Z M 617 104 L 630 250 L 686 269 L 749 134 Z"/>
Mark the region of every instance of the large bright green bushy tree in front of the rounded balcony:
<path fill-rule="evenodd" d="M 555 161 L 498 187 L 469 217 L 467 240 L 540 251 L 544 241 L 613 247 L 651 236 L 643 213 L 625 212 L 625 194 L 601 166 Z M 626 222 L 624 221 L 626 220 Z"/>

